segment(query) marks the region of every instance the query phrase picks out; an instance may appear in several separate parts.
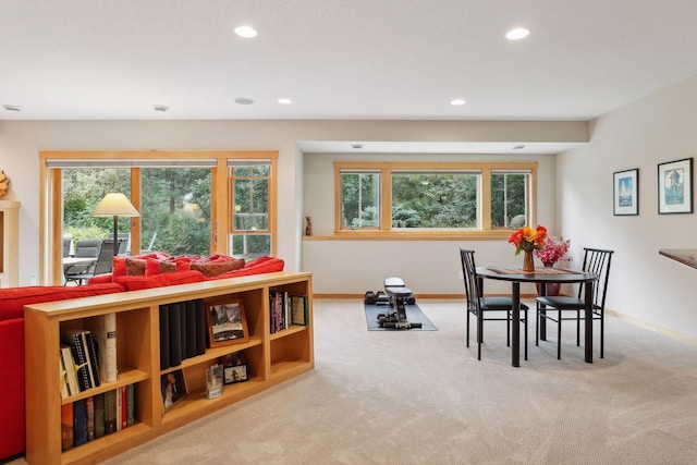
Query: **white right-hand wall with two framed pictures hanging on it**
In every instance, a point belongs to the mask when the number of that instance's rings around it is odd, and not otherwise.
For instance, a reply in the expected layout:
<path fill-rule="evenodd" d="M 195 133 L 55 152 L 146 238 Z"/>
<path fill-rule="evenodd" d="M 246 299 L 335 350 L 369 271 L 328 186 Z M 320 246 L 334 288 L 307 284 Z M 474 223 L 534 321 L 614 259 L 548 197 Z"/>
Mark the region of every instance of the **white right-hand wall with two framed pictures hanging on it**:
<path fill-rule="evenodd" d="M 697 76 L 594 121 L 590 144 L 557 163 L 561 232 L 575 255 L 582 246 L 615 250 L 608 307 L 689 338 L 697 338 L 697 269 L 658 250 L 697 248 L 697 217 L 658 215 L 657 179 L 658 163 L 695 157 L 696 148 Z M 612 173 L 634 168 L 639 215 L 614 217 Z"/>

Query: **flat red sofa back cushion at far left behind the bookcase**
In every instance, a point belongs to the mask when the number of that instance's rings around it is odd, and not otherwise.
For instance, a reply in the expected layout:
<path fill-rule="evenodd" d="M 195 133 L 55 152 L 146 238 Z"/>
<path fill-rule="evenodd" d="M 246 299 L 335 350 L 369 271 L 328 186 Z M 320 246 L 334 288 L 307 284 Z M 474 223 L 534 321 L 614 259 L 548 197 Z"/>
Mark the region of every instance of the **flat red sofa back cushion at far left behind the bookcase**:
<path fill-rule="evenodd" d="M 123 292 L 117 283 L 88 284 L 78 286 L 34 285 L 0 290 L 0 320 L 24 318 L 24 306 L 40 302 L 65 301 L 68 298 Z"/>

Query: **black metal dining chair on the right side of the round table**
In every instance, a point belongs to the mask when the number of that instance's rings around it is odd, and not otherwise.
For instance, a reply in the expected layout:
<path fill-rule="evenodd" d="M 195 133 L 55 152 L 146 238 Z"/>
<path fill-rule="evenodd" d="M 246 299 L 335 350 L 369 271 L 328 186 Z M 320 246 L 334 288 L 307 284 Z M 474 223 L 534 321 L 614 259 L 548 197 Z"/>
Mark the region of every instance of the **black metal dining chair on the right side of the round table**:
<path fill-rule="evenodd" d="M 584 247 L 583 270 L 598 277 L 592 291 L 592 319 L 600 321 L 600 358 L 604 356 L 604 331 L 606 331 L 606 294 L 608 292 L 608 280 L 610 278 L 610 262 L 614 250 L 601 248 Z M 586 301 L 584 299 L 584 283 L 578 286 L 576 296 L 540 296 L 536 298 L 537 325 L 535 328 L 535 345 L 539 345 L 540 322 L 546 321 L 557 323 L 557 358 L 562 357 L 562 321 L 576 321 L 576 345 L 580 345 L 580 321 L 584 319 Z M 571 314 L 571 315 L 570 315 Z"/>

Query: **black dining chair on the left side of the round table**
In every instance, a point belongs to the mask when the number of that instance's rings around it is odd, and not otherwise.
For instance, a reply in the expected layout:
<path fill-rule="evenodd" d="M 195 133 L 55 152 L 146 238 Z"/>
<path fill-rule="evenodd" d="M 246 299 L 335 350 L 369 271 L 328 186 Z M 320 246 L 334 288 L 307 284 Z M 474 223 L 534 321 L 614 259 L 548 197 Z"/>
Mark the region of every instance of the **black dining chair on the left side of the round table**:
<path fill-rule="evenodd" d="M 511 345 L 511 319 L 513 315 L 513 301 L 511 297 L 497 296 L 484 297 L 484 284 L 477 278 L 475 265 L 475 250 L 460 249 L 463 278 L 465 280 L 465 294 L 467 296 L 467 347 L 469 347 L 469 316 L 477 318 L 477 359 L 481 359 L 481 344 L 484 342 L 485 321 L 506 322 L 506 345 Z M 521 303 L 521 322 L 525 325 L 524 358 L 527 360 L 527 310 L 528 306 Z M 504 315 L 501 315 L 504 314 Z"/>

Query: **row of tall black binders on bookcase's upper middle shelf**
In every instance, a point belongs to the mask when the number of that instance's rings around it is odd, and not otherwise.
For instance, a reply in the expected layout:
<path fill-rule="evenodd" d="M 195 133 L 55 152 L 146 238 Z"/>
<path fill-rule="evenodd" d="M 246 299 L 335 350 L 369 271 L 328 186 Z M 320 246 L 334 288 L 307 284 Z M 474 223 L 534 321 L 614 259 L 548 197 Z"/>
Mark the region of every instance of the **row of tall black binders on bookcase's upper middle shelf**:
<path fill-rule="evenodd" d="M 206 307 L 200 298 L 160 305 L 160 369 L 206 353 Z"/>

